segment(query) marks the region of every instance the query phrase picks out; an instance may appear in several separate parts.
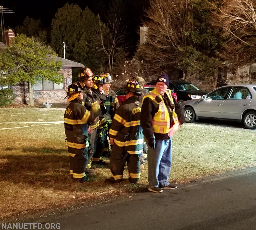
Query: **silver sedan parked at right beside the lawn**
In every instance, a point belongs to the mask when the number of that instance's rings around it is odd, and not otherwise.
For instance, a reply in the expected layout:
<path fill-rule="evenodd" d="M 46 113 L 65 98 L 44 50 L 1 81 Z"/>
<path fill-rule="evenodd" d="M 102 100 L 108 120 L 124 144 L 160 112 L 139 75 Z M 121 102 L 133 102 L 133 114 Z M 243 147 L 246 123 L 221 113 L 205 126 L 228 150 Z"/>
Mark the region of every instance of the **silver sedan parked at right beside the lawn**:
<path fill-rule="evenodd" d="M 256 129 L 256 84 L 223 86 L 182 105 L 186 122 L 199 118 L 234 120 Z"/>

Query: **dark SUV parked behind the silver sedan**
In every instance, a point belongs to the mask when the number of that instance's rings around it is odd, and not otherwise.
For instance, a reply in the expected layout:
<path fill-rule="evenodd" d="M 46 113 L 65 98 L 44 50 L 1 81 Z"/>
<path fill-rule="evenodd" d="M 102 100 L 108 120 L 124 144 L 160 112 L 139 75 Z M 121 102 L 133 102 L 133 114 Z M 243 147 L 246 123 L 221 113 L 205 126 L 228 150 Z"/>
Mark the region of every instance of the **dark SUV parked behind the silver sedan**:
<path fill-rule="evenodd" d="M 156 80 L 150 81 L 147 84 L 155 85 Z M 179 102 L 188 101 L 191 99 L 200 99 L 202 95 L 208 92 L 202 91 L 194 86 L 192 83 L 182 80 L 170 81 L 168 89 L 177 94 L 177 100 Z"/>

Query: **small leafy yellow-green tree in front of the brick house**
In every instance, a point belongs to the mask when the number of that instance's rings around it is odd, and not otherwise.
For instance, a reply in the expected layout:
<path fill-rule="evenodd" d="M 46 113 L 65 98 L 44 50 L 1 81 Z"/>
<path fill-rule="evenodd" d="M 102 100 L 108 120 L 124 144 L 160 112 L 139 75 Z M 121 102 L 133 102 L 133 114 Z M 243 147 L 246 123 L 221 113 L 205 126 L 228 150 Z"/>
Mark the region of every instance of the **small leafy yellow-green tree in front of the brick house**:
<path fill-rule="evenodd" d="M 8 71 L 0 77 L 0 84 L 9 85 L 28 82 L 29 105 L 34 105 L 33 86 L 38 77 L 61 83 L 63 76 L 58 73 L 61 62 L 56 62 L 51 47 L 37 42 L 24 34 L 17 34 L 13 46 L 0 50 L 0 70 Z"/>

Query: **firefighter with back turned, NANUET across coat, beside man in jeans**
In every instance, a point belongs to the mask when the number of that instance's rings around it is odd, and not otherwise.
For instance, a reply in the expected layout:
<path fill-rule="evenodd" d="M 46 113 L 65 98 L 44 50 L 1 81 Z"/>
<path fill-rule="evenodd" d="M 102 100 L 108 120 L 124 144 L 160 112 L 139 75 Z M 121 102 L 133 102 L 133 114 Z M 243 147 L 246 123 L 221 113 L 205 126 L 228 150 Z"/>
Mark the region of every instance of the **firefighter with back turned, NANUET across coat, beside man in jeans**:
<path fill-rule="evenodd" d="M 137 81 L 129 81 L 125 87 L 126 101 L 118 108 L 109 130 L 111 177 L 106 183 L 116 183 L 123 179 L 124 166 L 127 162 L 129 181 L 137 183 L 140 179 L 140 155 L 143 151 L 143 130 L 140 114 L 141 102 L 138 96 L 145 93 Z"/>

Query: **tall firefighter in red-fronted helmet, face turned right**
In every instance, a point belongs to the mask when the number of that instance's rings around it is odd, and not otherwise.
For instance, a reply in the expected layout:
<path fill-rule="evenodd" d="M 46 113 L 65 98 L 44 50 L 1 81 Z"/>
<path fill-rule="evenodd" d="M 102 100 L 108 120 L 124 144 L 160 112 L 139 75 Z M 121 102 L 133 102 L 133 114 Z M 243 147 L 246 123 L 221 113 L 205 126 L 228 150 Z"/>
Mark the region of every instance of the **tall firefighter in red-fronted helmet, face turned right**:
<path fill-rule="evenodd" d="M 88 165 L 86 166 L 86 173 L 94 173 L 94 171 L 91 169 L 91 159 L 95 151 L 95 145 L 97 141 L 97 128 L 101 127 L 103 125 L 106 127 L 108 124 L 106 122 L 106 119 L 103 117 L 100 105 L 97 101 L 97 96 L 92 92 L 93 87 L 93 72 L 90 68 L 83 68 L 79 75 L 79 82 L 81 83 L 84 91 L 84 106 L 90 110 L 92 107 L 97 108 L 97 120 L 93 123 L 90 123 L 88 126 L 88 134 L 89 134 L 89 161 Z"/>

